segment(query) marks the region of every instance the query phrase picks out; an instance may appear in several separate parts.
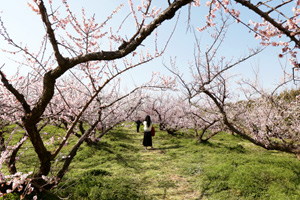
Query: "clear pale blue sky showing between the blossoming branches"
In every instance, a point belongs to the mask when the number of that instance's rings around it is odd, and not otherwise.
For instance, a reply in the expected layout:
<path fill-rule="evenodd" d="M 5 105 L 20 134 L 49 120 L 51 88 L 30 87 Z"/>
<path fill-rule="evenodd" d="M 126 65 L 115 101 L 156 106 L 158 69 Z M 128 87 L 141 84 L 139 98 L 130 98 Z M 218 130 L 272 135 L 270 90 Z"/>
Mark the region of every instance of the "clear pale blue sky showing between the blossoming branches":
<path fill-rule="evenodd" d="M 16 41 L 19 41 L 22 44 L 27 44 L 30 48 L 39 48 L 40 43 L 36 40 L 36 38 L 40 38 L 44 34 L 44 28 L 42 26 L 40 17 L 31 11 L 26 2 L 27 1 L 20 2 L 19 0 L 5 1 L 5 3 L 2 3 L 1 5 L 0 16 L 2 17 L 2 20 L 7 27 L 7 31 L 12 38 L 16 38 Z M 159 2 L 159 0 L 154 0 L 153 4 L 155 4 L 155 2 Z M 84 7 L 88 15 L 92 16 L 95 14 L 97 20 L 101 22 L 105 20 L 112 10 L 114 10 L 120 3 L 123 3 L 124 7 L 110 24 L 112 27 L 118 27 L 123 21 L 124 16 L 130 13 L 127 1 L 76 0 L 73 2 L 70 1 L 70 8 L 74 10 L 74 12 L 80 12 L 81 8 Z M 16 6 L 17 4 L 18 6 Z M 200 8 L 192 8 L 191 10 L 192 20 L 190 23 L 195 27 L 203 26 L 205 23 L 207 8 L 205 8 L 205 5 L 203 4 L 204 3 L 202 3 Z M 58 8 L 61 9 L 61 7 Z M 241 13 L 241 15 L 243 15 L 242 11 Z M 249 13 L 245 11 L 244 15 L 249 15 Z M 179 22 L 167 47 L 166 53 L 162 57 L 157 58 L 145 65 L 139 66 L 124 74 L 122 76 L 122 81 L 126 87 L 130 88 L 132 85 L 140 85 L 145 82 L 145 80 L 150 80 L 152 71 L 159 71 L 162 74 L 171 75 L 163 66 L 163 64 L 170 66 L 169 59 L 171 57 L 174 58 L 175 56 L 177 60 L 177 67 L 188 77 L 188 62 L 194 59 L 193 53 L 195 38 L 191 29 L 187 31 L 187 18 L 188 7 L 185 7 L 180 11 Z M 161 46 L 165 44 L 167 38 L 171 34 L 171 30 L 175 25 L 175 21 L 176 19 L 169 20 L 159 27 L 158 43 L 161 44 Z M 129 28 L 125 31 L 130 33 L 131 29 Z M 128 37 L 130 37 L 130 34 L 128 34 Z M 199 41 L 205 50 L 206 45 L 209 44 L 209 36 L 206 32 L 202 32 L 197 33 L 197 37 L 199 37 Z M 145 47 L 141 48 L 146 48 L 148 44 L 153 45 L 151 42 L 151 38 L 147 39 L 143 43 Z M 219 56 L 225 56 L 226 58 L 233 60 L 238 59 L 241 56 L 246 55 L 249 48 L 259 47 L 259 42 L 260 41 L 254 38 L 253 33 L 249 33 L 249 30 L 246 27 L 241 24 L 233 23 L 229 27 L 225 42 L 219 51 Z M 7 42 L 0 40 L 1 48 L 5 48 L 6 45 Z M 292 73 L 292 66 L 287 62 L 287 59 L 279 59 L 278 54 L 280 52 L 280 48 L 267 47 L 259 55 L 246 62 L 243 62 L 237 67 L 234 67 L 230 73 L 237 74 L 239 77 L 243 77 L 245 79 L 249 78 L 253 80 L 253 71 L 258 70 L 260 82 L 263 87 L 266 89 L 272 89 L 283 76 L 282 67 L 286 68 L 287 72 Z M 7 59 L 7 55 L 3 54 L 2 52 L 0 53 L 0 59 L 2 62 L 6 63 L 5 67 L 2 69 L 6 74 L 10 75 L 15 73 L 15 70 L 18 67 L 17 64 L 10 62 Z M 297 85 L 291 84 L 290 87 L 297 87 Z"/>

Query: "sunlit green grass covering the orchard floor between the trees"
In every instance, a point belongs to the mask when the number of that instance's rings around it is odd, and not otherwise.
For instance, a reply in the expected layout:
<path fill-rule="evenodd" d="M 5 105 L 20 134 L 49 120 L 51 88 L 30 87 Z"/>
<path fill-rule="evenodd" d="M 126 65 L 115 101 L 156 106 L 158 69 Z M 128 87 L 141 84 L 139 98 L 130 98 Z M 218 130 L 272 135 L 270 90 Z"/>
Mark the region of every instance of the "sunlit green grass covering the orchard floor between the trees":
<path fill-rule="evenodd" d="M 99 145 L 84 144 L 52 192 L 68 199 L 300 199 L 300 162 L 222 133 L 209 142 L 156 129 L 154 150 L 143 133 L 119 127 Z"/>

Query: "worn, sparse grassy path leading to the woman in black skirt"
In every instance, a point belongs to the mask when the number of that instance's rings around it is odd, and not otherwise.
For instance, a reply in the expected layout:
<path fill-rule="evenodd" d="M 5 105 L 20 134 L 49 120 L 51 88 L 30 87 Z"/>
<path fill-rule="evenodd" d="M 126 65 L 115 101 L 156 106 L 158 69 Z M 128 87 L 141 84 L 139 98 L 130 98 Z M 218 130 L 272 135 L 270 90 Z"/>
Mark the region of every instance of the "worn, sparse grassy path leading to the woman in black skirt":
<path fill-rule="evenodd" d="M 175 157 L 183 157 L 179 144 L 168 137 L 165 132 L 158 132 L 153 137 L 153 150 L 143 150 L 143 134 L 131 132 L 135 138 L 134 145 L 141 150 L 139 156 L 144 169 L 137 174 L 141 176 L 142 185 L 145 187 L 147 196 L 152 199 L 197 199 L 200 194 L 190 184 L 190 177 L 182 174 L 182 170 L 176 165 L 178 160 Z M 171 140 L 171 141 L 168 141 Z"/>

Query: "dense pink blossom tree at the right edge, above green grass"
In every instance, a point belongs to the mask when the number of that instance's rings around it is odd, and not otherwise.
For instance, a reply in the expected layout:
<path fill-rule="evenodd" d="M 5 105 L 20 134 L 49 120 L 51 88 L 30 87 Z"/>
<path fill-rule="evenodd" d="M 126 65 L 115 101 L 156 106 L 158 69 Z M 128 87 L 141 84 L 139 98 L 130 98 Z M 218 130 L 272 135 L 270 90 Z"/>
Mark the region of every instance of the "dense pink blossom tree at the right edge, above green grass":
<path fill-rule="evenodd" d="M 238 102 L 231 112 L 243 113 L 235 122 L 235 132 L 248 135 L 265 149 L 292 153 L 299 159 L 298 96 L 276 93 L 291 81 L 288 79 L 271 92 L 259 89 L 257 82 L 244 82 L 250 86 L 245 92 L 248 98 Z"/>

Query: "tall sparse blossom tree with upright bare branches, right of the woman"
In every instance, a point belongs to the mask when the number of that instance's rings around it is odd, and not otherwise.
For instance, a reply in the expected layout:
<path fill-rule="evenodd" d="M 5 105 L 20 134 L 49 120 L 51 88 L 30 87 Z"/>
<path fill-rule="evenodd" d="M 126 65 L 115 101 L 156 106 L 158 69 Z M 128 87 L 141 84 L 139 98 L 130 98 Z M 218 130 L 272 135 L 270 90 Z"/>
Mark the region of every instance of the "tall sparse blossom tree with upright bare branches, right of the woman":
<path fill-rule="evenodd" d="M 187 124 L 190 127 L 186 128 L 193 128 L 200 142 L 226 130 L 229 121 L 234 121 L 238 116 L 239 113 L 228 114 L 232 106 L 230 100 L 233 100 L 230 98 L 233 97 L 232 91 L 228 87 L 233 75 L 229 74 L 229 70 L 261 52 L 261 49 L 251 50 L 249 55 L 235 62 L 225 57 L 218 60 L 218 51 L 228 29 L 227 20 L 228 18 L 221 19 L 220 27 L 214 27 L 211 45 L 206 46 L 204 52 L 196 37 L 195 58 L 189 66 L 191 80 L 185 78 L 172 59 L 171 67 L 167 67 L 177 76 L 185 99 L 190 104 L 190 108 L 186 110 L 190 121 Z"/>

